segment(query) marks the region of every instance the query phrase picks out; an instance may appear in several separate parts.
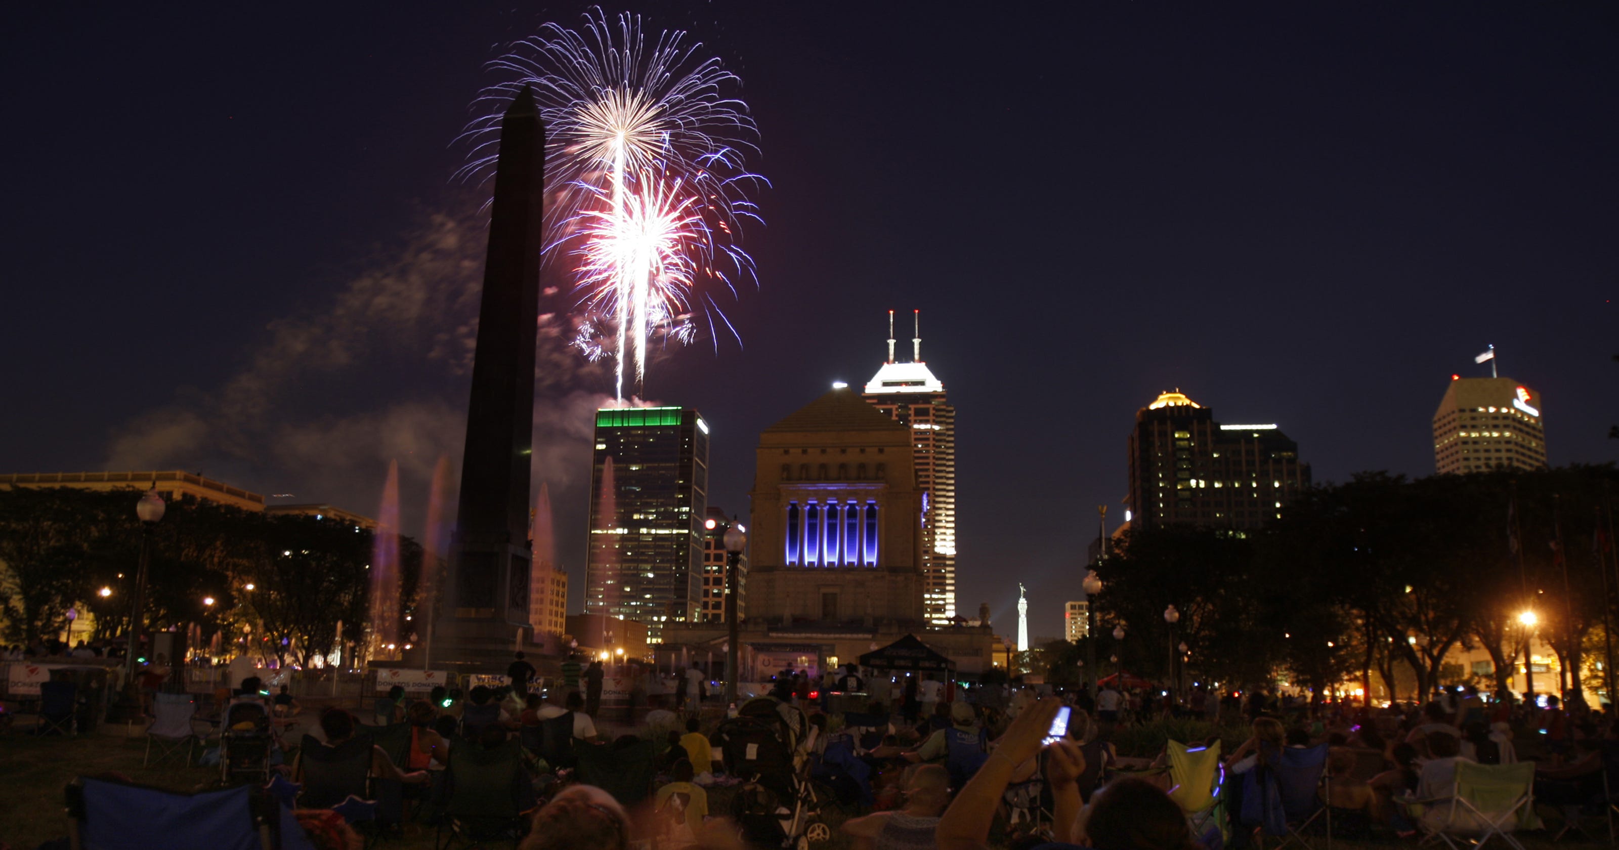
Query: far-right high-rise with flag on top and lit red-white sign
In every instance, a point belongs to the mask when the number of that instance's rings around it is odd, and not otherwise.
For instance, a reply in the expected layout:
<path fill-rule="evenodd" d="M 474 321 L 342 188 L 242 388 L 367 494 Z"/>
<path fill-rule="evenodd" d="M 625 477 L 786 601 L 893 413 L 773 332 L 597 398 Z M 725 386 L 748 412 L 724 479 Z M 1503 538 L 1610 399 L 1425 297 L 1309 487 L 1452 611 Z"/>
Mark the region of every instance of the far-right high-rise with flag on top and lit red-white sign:
<path fill-rule="evenodd" d="M 1433 414 L 1439 474 L 1545 468 L 1543 402 L 1511 377 L 1452 377 Z"/>

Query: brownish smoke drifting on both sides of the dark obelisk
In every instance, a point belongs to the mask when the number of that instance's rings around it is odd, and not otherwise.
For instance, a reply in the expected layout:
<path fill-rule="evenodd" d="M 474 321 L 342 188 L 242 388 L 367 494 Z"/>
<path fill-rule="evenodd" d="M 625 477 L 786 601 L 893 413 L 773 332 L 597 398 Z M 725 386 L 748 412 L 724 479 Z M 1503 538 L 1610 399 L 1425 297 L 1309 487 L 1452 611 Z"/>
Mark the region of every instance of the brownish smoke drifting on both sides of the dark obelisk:
<path fill-rule="evenodd" d="M 280 502 L 374 515 L 397 460 L 403 531 L 419 536 L 440 457 L 458 481 L 486 225 L 471 198 L 458 212 L 419 214 L 327 303 L 270 322 L 219 387 L 180 390 L 120 427 L 105 468 L 201 471 L 291 495 Z M 534 492 L 549 482 L 559 565 L 581 575 L 594 410 L 612 403 L 601 392 L 612 387 L 610 358 L 593 363 L 570 345 L 583 322 L 568 311 L 541 317 L 534 402 Z"/>

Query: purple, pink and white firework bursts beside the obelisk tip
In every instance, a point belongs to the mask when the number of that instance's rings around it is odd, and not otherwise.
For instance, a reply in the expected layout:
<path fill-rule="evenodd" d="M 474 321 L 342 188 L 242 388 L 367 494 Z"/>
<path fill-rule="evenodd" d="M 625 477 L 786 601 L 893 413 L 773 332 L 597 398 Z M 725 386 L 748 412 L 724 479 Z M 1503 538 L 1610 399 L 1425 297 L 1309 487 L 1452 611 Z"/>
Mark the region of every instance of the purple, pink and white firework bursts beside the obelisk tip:
<path fill-rule="evenodd" d="M 735 296 L 737 282 L 758 282 L 738 244 L 745 220 L 763 223 L 746 191 L 767 183 L 745 167 L 758 128 L 746 104 L 725 96 L 742 81 L 699 47 L 682 31 L 648 45 L 640 16 L 609 21 L 599 6 L 578 29 L 546 24 L 491 63 L 505 79 L 479 92 L 474 110 L 489 112 L 463 133 L 471 144 L 463 176 L 487 178 L 500 115 L 533 87 L 554 193 L 546 253 L 578 257 L 570 272 L 580 304 L 591 324 L 615 327 L 620 398 L 631 356 L 635 380 L 644 380 L 649 337 L 688 343 L 698 314 L 716 346 L 716 321 L 735 335 L 701 283 Z M 589 325 L 581 332 L 588 356 L 604 353 L 601 337 Z"/>

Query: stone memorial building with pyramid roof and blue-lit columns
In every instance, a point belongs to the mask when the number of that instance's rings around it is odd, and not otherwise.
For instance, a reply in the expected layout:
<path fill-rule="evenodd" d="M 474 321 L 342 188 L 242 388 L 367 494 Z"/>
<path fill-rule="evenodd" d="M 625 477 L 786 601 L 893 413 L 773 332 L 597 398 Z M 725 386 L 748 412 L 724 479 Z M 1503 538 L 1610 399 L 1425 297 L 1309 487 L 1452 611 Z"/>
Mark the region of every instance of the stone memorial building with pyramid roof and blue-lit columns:
<path fill-rule="evenodd" d="M 784 665 L 819 674 L 915 635 L 976 675 L 983 625 L 923 617 L 921 487 L 911 429 L 837 385 L 759 436 L 748 526 L 743 693 Z M 690 659 L 724 664 L 729 623 L 665 631 Z M 719 678 L 719 670 L 711 669 Z"/>

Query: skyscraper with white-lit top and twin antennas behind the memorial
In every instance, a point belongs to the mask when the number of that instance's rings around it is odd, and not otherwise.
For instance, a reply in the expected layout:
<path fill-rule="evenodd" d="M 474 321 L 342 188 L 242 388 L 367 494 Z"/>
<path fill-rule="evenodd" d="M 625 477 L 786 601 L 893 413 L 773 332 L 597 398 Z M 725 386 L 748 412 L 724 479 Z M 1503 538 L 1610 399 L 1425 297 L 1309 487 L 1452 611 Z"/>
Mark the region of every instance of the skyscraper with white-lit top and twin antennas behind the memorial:
<path fill-rule="evenodd" d="M 915 334 L 911 361 L 895 363 L 889 311 L 889 359 L 866 382 L 865 398 L 911 429 L 921 489 L 923 615 L 947 625 L 955 618 L 955 408 L 945 400 L 944 382 L 921 359 L 920 317 Z"/>

